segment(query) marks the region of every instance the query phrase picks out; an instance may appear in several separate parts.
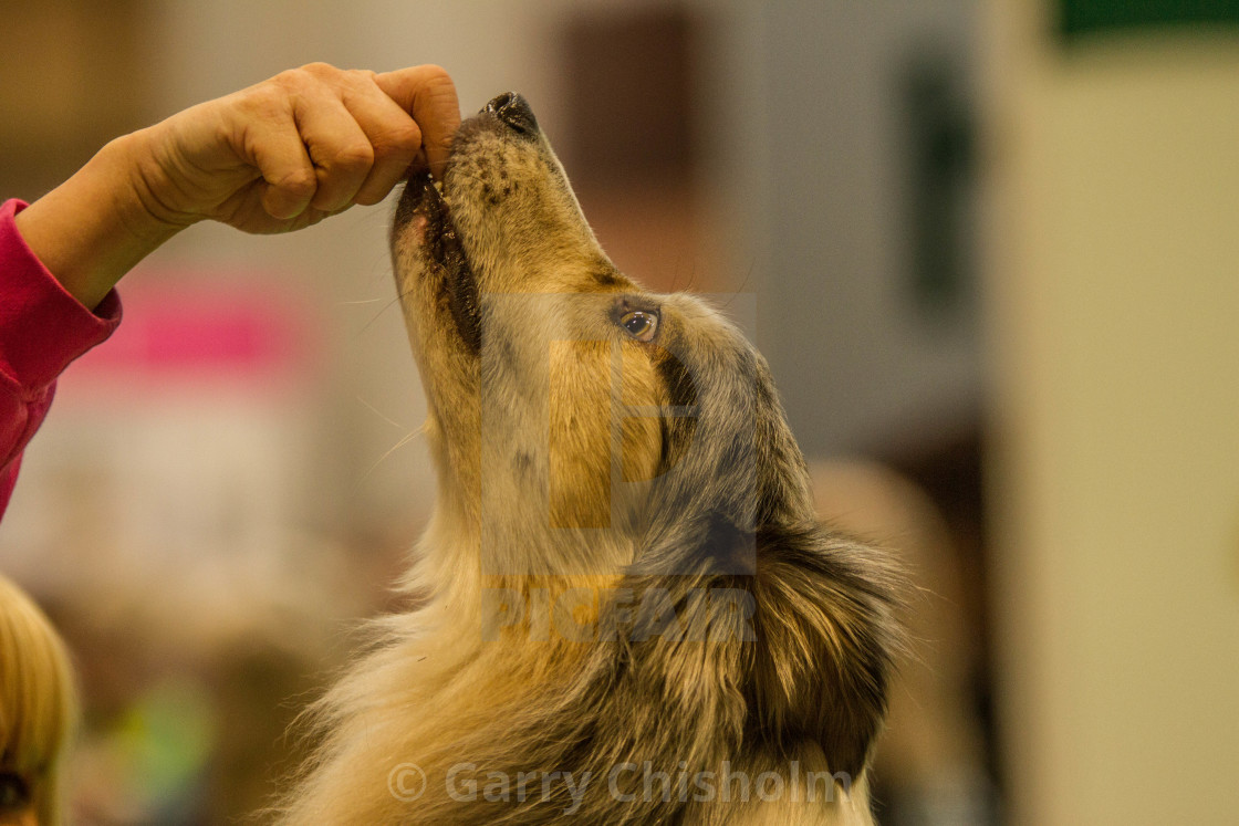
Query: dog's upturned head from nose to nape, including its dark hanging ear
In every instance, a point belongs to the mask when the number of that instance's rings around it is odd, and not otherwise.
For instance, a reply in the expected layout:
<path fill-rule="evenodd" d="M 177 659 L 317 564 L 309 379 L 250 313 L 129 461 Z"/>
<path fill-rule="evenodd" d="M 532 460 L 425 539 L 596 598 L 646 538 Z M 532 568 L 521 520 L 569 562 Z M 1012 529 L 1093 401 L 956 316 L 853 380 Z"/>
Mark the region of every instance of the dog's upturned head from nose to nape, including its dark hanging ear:
<path fill-rule="evenodd" d="M 771 603 L 737 691 L 778 748 L 808 738 L 859 772 L 885 703 L 881 562 L 818 529 L 740 331 L 616 269 L 519 95 L 461 126 L 441 191 L 410 178 L 392 248 L 453 541 L 493 575 L 733 577 Z M 683 660 L 659 650 L 641 656 Z"/>

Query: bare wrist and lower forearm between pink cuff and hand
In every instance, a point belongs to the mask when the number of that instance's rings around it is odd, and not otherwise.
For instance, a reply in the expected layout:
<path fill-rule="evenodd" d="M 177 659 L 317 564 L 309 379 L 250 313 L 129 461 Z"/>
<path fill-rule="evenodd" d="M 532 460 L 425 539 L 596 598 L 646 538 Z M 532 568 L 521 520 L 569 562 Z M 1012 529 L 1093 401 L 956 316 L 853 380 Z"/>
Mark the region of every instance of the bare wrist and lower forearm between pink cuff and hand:
<path fill-rule="evenodd" d="M 156 219 L 142 203 L 139 159 L 147 131 L 113 140 L 16 217 L 31 250 L 92 310 L 125 272 L 181 229 Z"/>

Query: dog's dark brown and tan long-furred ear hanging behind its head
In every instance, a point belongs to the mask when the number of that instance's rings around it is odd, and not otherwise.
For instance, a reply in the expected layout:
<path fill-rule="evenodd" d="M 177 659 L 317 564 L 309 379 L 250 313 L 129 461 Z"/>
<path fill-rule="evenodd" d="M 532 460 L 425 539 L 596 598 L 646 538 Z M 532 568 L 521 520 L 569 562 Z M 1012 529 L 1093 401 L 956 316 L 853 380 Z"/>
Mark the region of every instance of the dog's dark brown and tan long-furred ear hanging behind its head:
<path fill-rule="evenodd" d="M 748 680 L 757 737 L 783 754 L 817 743 L 859 778 L 886 715 L 902 589 L 883 555 L 817 526 L 757 535 Z"/>

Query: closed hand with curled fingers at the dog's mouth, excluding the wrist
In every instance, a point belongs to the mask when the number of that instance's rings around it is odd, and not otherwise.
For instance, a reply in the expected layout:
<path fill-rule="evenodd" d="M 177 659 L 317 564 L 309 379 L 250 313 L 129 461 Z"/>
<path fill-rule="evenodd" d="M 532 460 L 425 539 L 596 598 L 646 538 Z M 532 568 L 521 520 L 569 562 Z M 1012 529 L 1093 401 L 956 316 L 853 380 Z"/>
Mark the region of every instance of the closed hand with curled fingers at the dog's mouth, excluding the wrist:
<path fill-rule="evenodd" d="M 456 89 L 436 66 L 312 63 L 131 135 L 131 186 L 173 228 L 289 232 L 380 202 L 413 163 L 437 176 L 458 124 Z"/>

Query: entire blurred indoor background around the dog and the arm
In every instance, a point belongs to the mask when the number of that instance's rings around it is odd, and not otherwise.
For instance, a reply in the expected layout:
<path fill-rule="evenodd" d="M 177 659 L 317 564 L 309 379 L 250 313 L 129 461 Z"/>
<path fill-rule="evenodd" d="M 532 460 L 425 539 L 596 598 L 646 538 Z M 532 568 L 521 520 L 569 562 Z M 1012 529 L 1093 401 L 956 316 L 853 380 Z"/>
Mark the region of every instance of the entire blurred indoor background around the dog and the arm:
<path fill-rule="evenodd" d="M 0 193 L 310 61 L 523 92 L 622 269 L 756 306 L 823 515 L 913 570 L 882 821 L 1230 822 L 1239 35 L 1073 5 L 7 2 Z M 390 604 L 434 479 L 389 212 L 193 228 L 62 381 L 0 570 L 78 655 L 82 822 L 261 805 Z"/>

